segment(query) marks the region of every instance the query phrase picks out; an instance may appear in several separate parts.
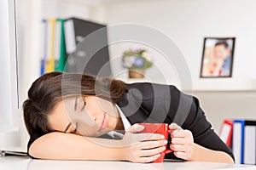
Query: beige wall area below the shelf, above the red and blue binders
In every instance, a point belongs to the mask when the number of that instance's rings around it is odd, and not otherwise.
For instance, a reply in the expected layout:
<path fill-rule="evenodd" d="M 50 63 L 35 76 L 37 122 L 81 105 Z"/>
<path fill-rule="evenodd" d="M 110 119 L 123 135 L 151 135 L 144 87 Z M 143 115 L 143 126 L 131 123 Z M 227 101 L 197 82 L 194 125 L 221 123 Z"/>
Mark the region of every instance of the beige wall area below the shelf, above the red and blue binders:
<path fill-rule="evenodd" d="M 256 120 L 256 92 L 195 92 L 201 107 L 218 132 L 225 118 Z"/>

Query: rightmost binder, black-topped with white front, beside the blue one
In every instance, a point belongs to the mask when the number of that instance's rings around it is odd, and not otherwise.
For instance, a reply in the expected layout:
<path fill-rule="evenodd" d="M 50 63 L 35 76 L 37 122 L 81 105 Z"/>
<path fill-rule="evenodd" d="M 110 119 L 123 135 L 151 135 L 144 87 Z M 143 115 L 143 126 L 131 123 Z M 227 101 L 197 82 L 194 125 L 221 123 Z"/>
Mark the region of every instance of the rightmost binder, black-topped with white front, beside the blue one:
<path fill-rule="evenodd" d="M 244 164 L 256 165 L 256 121 L 245 121 Z"/>

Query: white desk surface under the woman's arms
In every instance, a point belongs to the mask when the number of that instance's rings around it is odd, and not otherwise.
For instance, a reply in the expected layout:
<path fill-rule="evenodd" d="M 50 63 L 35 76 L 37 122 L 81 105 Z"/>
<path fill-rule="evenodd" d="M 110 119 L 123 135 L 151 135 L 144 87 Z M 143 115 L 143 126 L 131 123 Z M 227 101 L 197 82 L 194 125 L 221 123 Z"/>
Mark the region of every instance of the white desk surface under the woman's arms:
<path fill-rule="evenodd" d="M 28 157 L 6 156 L 0 158 L 0 169 L 45 170 L 45 169 L 104 169 L 104 170 L 208 170 L 208 169 L 252 169 L 256 166 L 225 164 L 199 161 L 164 161 L 163 163 L 131 163 L 127 161 L 49 161 L 34 160 Z"/>

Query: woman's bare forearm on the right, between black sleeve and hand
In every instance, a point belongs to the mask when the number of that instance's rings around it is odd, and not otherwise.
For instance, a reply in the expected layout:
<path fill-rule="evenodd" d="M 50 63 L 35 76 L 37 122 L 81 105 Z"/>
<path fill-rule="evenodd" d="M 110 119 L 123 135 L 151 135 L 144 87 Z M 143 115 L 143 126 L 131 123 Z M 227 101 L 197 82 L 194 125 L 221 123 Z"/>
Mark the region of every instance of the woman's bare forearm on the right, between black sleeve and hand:
<path fill-rule="evenodd" d="M 209 150 L 199 144 L 193 144 L 193 154 L 189 161 L 216 161 L 234 163 L 231 156 L 224 151 Z"/>

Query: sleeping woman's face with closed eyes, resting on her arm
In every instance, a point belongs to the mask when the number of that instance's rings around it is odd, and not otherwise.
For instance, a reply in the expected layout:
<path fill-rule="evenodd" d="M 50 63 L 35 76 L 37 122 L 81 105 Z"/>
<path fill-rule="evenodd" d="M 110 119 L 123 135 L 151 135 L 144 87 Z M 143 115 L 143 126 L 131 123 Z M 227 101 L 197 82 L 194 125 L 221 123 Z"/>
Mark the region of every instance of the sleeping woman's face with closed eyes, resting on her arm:
<path fill-rule="evenodd" d="M 96 96 L 62 99 L 49 114 L 49 126 L 54 130 L 90 137 L 108 133 L 118 122 L 116 106 Z"/>

